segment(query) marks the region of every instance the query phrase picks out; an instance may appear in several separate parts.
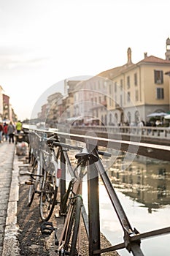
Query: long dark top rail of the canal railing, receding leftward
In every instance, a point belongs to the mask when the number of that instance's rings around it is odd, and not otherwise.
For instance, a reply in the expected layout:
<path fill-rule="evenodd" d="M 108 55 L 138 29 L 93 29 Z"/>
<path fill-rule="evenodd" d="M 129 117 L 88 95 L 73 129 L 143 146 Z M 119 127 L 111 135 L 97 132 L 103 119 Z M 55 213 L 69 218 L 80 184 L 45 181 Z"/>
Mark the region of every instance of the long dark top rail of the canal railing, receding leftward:
<path fill-rule="evenodd" d="M 81 142 L 86 142 L 87 140 L 93 140 L 93 143 L 96 143 L 98 146 L 104 146 L 106 148 L 113 148 L 118 151 L 128 151 L 132 154 L 139 154 L 143 155 L 145 157 L 151 157 L 155 159 L 162 159 L 165 161 L 169 161 L 169 151 L 170 146 L 169 145 L 161 145 L 158 143 L 152 143 L 152 141 L 149 142 L 141 142 L 141 141 L 134 141 L 132 140 L 133 136 L 129 135 L 128 140 L 123 139 L 116 139 L 116 138 L 101 138 L 97 136 L 96 137 L 86 135 L 86 132 L 84 129 L 81 129 L 80 133 L 73 129 L 72 133 L 69 132 L 60 132 L 60 131 L 50 131 L 46 129 L 29 129 L 30 131 L 35 132 L 43 132 L 45 134 L 54 134 L 58 135 L 60 138 L 69 138 L 71 140 L 78 140 Z M 137 137 L 136 137 L 137 138 Z M 137 138 L 137 140 L 140 140 L 140 137 Z"/>

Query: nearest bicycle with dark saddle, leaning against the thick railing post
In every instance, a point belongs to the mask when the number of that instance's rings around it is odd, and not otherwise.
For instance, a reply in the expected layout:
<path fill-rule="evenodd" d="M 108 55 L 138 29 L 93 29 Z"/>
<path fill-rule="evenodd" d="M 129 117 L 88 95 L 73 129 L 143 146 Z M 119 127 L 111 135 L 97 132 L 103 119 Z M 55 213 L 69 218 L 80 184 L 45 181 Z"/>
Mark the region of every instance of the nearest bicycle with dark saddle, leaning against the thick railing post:
<path fill-rule="evenodd" d="M 98 161 L 98 157 L 92 152 L 88 151 L 87 148 L 81 148 L 80 153 L 76 154 L 77 165 L 73 169 L 72 165 L 68 159 L 66 149 L 71 146 L 64 143 L 54 143 L 57 146 L 62 145 L 62 150 L 64 157 L 66 159 L 67 165 L 69 166 L 69 172 L 71 174 L 71 181 L 69 182 L 69 187 L 66 194 L 61 200 L 60 215 L 65 217 L 63 230 L 61 236 L 58 240 L 57 232 L 55 232 L 55 244 L 58 245 L 57 252 L 59 255 L 80 255 L 80 223 L 81 214 L 84 220 L 85 229 L 88 235 L 88 214 L 85 211 L 85 206 L 82 200 L 82 180 L 87 174 L 87 162 L 92 159 L 93 162 Z M 80 147 L 77 147 L 80 149 Z M 104 154 L 105 152 L 98 151 L 99 154 Z M 105 153 L 107 154 L 107 153 Z M 110 154 L 107 154 L 110 156 Z"/>

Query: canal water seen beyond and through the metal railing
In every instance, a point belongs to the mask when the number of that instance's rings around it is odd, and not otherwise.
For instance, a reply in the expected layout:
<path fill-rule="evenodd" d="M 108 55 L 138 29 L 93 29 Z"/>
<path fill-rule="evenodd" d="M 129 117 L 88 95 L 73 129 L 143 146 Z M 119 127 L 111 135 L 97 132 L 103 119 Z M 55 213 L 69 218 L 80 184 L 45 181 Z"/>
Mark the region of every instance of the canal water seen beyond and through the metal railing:
<path fill-rule="evenodd" d="M 169 227 L 170 162 L 115 150 L 111 153 L 111 159 L 102 157 L 102 162 L 131 227 L 139 233 Z M 99 183 L 101 232 L 112 245 L 122 243 L 122 227 L 104 184 L 101 180 Z M 85 189 L 82 196 L 86 208 L 87 194 Z M 169 244 L 170 233 L 142 239 L 141 248 L 145 256 L 168 256 Z M 132 255 L 126 249 L 117 252 L 121 256 Z"/>

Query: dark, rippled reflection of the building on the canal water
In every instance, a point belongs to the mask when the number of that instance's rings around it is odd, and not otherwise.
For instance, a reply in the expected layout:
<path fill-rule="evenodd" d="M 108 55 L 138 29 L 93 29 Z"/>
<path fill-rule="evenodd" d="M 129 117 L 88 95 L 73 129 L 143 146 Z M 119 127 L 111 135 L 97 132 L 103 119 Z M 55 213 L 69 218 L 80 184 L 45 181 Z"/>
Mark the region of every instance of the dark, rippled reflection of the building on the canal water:
<path fill-rule="evenodd" d="M 149 213 L 170 203 L 170 162 L 136 156 L 124 170 L 123 158 L 122 153 L 108 170 L 114 187 L 142 203 Z"/>

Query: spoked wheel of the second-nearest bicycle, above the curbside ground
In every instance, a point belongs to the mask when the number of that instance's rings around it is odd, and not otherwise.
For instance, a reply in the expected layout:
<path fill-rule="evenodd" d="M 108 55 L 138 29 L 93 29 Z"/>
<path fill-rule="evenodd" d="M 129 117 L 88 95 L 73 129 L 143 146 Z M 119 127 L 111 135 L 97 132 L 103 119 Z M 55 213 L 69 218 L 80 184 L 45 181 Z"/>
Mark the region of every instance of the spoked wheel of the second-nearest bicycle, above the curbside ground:
<path fill-rule="evenodd" d="M 39 213 L 44 221 L 49 220 L 53 214 L 58 193 L 58 187 L 55 184 L 55 166 L 51 163 L 48 169 L 44 173 L 39 200 Z"/>

